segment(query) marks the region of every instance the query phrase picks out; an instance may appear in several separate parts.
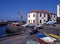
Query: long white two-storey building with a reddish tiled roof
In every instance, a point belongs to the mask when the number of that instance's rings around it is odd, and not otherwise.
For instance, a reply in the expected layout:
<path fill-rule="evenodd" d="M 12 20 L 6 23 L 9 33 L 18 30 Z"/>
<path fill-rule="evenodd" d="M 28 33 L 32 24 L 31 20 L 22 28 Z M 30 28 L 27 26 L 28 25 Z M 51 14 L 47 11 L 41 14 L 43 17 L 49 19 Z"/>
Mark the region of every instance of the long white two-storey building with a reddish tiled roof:
<path fill-rule="evenodd" d="M 40 25 L 48 21 L 56 22 L 56 14 L 48 11 L 33 10 L 27 14 L 27 24 Z"/>

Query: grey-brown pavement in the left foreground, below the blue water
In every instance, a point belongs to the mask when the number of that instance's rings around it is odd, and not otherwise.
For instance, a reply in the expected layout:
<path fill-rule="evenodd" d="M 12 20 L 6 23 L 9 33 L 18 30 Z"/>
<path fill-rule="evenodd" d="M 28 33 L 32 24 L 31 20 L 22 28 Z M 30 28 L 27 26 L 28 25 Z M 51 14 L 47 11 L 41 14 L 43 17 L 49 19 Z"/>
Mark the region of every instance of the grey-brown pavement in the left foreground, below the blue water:
<path fill-rule="evenodd" d="M 16 35 L 0 40 L 0 44 L 24 44 L 27 35 Z"/>

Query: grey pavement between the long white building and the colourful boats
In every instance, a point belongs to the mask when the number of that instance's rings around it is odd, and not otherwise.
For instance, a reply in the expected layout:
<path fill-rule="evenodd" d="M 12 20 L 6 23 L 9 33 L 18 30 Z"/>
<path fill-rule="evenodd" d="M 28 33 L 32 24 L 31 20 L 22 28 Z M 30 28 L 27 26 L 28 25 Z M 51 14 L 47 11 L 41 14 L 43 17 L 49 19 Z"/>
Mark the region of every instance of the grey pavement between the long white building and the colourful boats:
<path fill-rule="evenodd" d="M 44 26 L 43 29 L 39 29 L 41 33 L 53 33 L 57 34 L 60 33 L 60 25 L 56 26 Z"/>

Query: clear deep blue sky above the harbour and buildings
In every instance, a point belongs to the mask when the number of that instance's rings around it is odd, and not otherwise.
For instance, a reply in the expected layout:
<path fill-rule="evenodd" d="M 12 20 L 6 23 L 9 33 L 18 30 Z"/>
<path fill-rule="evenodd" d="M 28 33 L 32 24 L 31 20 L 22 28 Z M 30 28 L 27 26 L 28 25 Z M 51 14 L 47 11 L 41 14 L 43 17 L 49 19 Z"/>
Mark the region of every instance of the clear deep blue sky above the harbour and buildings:
<path fill-rule="evenodd" d="M 27 12 L 32 10 L 46 10 L 57 13 L 57 4 L 60 0 L 0 0 L 0 20 L 19 21 L 18 10 L 26 21 Z"/>

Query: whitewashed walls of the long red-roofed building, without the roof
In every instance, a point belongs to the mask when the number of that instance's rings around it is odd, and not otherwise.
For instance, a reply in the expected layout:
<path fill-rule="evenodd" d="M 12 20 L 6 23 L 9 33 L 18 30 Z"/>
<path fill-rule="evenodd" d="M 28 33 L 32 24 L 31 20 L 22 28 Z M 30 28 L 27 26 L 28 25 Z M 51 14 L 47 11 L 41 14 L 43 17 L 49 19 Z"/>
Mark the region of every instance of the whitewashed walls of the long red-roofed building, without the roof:
<path fill-rule="evenodd" d="M 33 17 L 33 14 L 35 14 L 35 17 Z M 41 17 L 40 17 L 40 14 L 41 14 Z M 29 17 L 30 15 L 30 17 Z M 51 21 L 52 22 L 56 22 L 57 20 L 57 16 L 55 15 L 52 15 L 51 16 Z M 36 13 L 36 12 L 33 12 L 33 13 L 28 13 L 27 14 L 27 23 L 29 24 L 29 20 L 30 20 L 30 23 L 33 23 L 33 20 L 35 20 L 35 24 L 44 24 L 46 23 L 46 21 L 48 20 L 48 14 L 45 14 L 45 17 L 44 17 L 44 13 Z M 31 22 L 32 20 L 32 22 Z M 41 20 L 41 23 L 40 23 L 40 20 Z M 44 21 L 45 20 L 45 21 Z"/>

